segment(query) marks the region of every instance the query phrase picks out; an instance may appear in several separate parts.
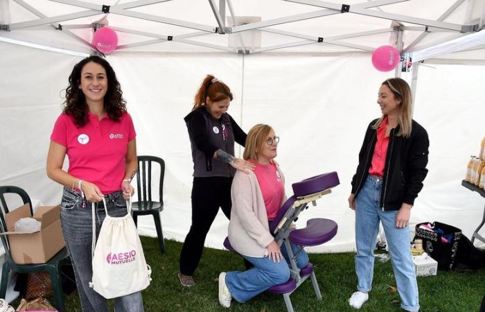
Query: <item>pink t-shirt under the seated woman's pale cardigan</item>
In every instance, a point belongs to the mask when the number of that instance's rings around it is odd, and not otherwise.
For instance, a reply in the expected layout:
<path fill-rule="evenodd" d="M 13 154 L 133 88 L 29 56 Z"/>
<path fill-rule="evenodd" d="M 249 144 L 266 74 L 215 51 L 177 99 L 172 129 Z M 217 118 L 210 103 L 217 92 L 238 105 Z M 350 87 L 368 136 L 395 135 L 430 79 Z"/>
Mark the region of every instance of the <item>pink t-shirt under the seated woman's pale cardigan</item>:
<path fill-rule="evenodd" d="M 258 178 L 261 193 L 265 200 L 267 220 L 271 221 L 276 218 L 276 214 L 281 206 L 281 200 L 285 194 L 281 175 L 276 169 L 276 164 L 256 164 L 254 174 Z"/>

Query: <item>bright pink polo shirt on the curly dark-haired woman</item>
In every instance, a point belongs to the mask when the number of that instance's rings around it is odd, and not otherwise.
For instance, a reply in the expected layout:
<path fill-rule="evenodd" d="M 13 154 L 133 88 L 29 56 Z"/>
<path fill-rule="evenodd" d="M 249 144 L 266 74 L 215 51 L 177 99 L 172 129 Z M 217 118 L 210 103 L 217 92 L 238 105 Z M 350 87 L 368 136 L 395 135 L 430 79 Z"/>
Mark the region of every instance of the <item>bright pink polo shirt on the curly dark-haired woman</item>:
<path fill-rule="evenodd" d="M 66 146 L 70 175 L 96 184 L 109 194 L 121 190 L 125 177 L 127 144 L 136 137 L 132 117 L 123 113 L 118 122 L 88 112 L 88 122 L 78 128 L 72 116 L 61 114 L 51 140 Z"/>

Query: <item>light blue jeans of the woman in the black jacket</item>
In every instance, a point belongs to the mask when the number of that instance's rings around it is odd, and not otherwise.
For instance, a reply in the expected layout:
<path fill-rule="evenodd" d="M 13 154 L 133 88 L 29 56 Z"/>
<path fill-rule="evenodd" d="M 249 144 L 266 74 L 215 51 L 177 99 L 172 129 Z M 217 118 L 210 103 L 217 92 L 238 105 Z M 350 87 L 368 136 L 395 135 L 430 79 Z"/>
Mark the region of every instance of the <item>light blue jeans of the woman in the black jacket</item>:
<path fill-rule="evenodd" d="M 364 186 L 355 198 L 355 272 L 358 278 L 358 290 L 367 293 L 372 288 L 374 269 L 374 249 L 379 232 L 379 220 L 382 222 L 389 246 L 392 268 L 401 300 L 401 308 L 407 311 L 419 310 L 418 284 L 410 251 L 409 226 L 396 227 L 398 211 L 380 209 L 382 178 L 369 175 Z"/>

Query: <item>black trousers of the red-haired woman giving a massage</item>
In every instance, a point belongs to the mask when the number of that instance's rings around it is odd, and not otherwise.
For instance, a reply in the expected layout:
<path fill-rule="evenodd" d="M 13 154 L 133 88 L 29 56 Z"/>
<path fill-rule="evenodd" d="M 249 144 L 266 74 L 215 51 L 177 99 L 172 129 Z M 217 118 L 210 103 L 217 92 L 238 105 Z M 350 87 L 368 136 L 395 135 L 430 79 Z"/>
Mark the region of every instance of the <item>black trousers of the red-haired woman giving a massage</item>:
<path fill-rule="evenodd" d="M 180 272 L 193 275 L 199 265 L 204 241 L 219 207 L 231 218 L 232 177 L 194 177 L 192 186 L 192 225 L 180 252 Z"/>

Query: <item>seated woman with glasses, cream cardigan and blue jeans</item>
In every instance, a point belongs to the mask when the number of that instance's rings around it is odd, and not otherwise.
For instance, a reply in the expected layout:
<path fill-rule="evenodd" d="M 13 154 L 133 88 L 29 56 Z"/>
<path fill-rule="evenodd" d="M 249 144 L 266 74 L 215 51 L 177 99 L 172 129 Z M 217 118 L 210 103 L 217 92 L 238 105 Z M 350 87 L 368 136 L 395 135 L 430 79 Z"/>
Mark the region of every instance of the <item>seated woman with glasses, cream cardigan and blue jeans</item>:
<path fill-rule="evenodd" d="M 286 249 L 284 245 L 280 249 L 274 241 L 268 224 L 286 200 L 283 173 L 272 161 L 278 142 L 279 137 L 269 125 L 255 125 L 247 134 L 243 158 L 254 162 L 256 168 L 249 174 L 237 171 L 234 175 L 229 241 L 254 268 L 220 273 L 219 302 L 224 307 L 231 305 L 232 298 L 247 302 L 290 278 Z M 293 244 L 292 251 L 297 266 L 306 267 L 306 252 Z"/>

